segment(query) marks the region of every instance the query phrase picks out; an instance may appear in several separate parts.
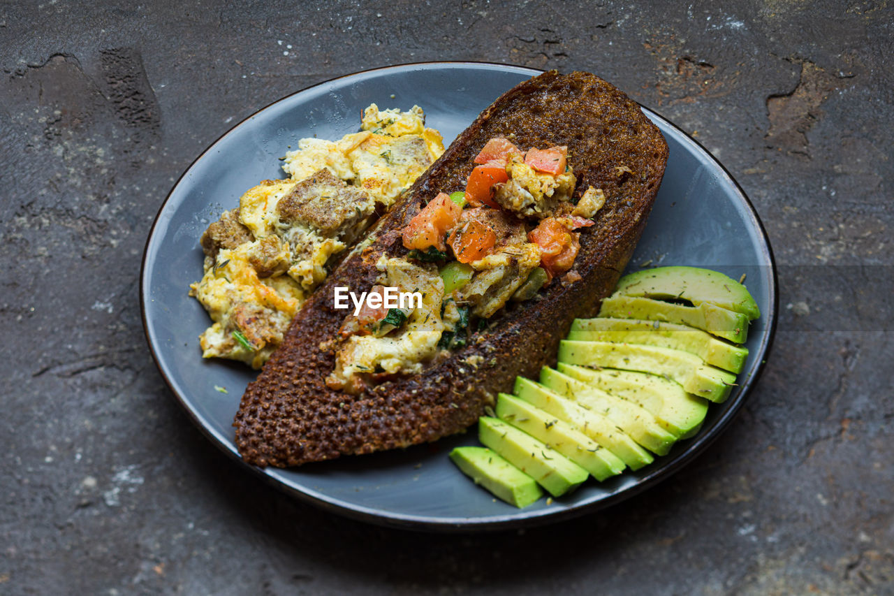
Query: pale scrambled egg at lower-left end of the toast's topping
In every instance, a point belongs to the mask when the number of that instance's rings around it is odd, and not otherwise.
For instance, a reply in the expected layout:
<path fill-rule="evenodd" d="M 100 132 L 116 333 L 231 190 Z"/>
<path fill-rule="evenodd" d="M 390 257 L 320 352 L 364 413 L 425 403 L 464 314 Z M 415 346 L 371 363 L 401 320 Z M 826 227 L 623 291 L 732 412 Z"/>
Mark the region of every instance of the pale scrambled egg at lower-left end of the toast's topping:
<path fill-rule="evenodd" d="M 388 258 L 378 266 L 385 272 L 382 285 L 420 292 L 422 308 L 410 311 L 406 324 L 387 336 L 350 336 L 335 354 L 335 370 L 326 379 L 330 387 L 358 393 L 361 375 L 416 374 L 422 370 L 422 362 L 438 353 L 445 326 L 441 319 L 444 285 L 437 268 L 400 257 Z"/>

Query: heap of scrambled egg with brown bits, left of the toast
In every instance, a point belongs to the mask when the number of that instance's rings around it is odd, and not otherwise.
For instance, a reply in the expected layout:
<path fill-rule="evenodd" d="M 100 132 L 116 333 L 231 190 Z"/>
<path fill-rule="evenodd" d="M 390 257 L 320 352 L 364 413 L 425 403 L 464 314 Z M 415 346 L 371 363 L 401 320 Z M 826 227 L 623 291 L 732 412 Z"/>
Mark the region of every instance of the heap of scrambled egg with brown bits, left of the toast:
<path fill-rule="evenodd" d="M 204 357 L 260 368 L 345 251 L 443 153 L 419 106 L 372 104 L 361 129 L 299 140 L 283 165 L 290 179 L 259 183 L 208 226 L 205 273 L 190 285 L 214 321 L 199 338 Z"/>

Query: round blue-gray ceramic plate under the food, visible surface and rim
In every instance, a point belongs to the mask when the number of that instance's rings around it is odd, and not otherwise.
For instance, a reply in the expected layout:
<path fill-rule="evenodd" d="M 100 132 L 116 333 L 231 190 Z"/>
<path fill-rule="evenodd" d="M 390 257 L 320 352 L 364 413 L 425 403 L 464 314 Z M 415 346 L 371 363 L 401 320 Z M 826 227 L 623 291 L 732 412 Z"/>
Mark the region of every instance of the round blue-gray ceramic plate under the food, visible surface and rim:
<path fill-rule="evenodd" d="M 302 137 L 337 139 L 358 130 L 360 110 L 413 104 L 450 142 L 503 91 L 537 71 L 503 64 L 407 64 L 359 72 L 299 91 L 239 123 L 190 166 L 164 201 L 149 234 L 140 298 L 159 370 L 199 428 L 232 457 L 232 419 L 255 372 L 240 364 L 201 358 L 198 335 L 206 312 L 187 295 L 202 272 L 198 238 L 242 192 L 281 178 L 277 159 Z M 372 456 L 345 457 L 291 470 L 251 469 L 295 496 L 369 521 L 429 529 L 484 529 L 537 524 L 606 507 L 666 478 L 716 438 L 743 404 L 762 368 L 776 319 L 772 253 L 755 210 L 723 167 L 695 140 L 645 110 L 671 147 L 661 191 L 630 267 L 662 265 L 719 269 L 754 294 L 763 316 L 755 321 L 746 369 L 725 404 L 712 405 L 696 438 L 636 473 L 589 481 L 567 498 L 519 510 L 468 481 L 451 464 L 452 447 L 477 443 L 475 432 Z M 215 390 L 225 387 L 227 394 Z"/>

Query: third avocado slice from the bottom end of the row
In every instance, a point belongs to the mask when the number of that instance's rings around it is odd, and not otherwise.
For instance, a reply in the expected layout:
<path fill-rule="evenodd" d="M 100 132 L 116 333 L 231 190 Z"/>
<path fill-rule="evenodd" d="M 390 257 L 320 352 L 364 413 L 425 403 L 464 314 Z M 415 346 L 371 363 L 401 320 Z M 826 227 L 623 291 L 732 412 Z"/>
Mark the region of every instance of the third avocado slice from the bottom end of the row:
<path fill-rule="evenodd" d="M 517 429 L 542 440 L 584 468 L 597 481 L 620 474 L 627 467 L 618 456 L 592 438 L 518 397 L 501 393 L 497 399 L 496 410 L 500 420 L 509 422 Z"/>

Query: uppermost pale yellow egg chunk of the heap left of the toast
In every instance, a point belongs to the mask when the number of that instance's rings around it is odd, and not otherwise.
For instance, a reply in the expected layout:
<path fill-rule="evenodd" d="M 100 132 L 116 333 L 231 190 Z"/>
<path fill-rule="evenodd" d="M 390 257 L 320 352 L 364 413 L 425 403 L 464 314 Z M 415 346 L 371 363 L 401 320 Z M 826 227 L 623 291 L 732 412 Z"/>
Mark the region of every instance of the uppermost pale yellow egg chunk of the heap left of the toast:
<path fill-rule="evenodd" d="M 444 152 L 441 133 L 425 123 L 419 106 L 401 112 L 372 104 L 364 110 L 361 132 L 336 141 L 301 139 L 299 149 L 286 154 L 283 170 L 292 180 L 302 180 L 325 167 L 391 207 Z"/>

